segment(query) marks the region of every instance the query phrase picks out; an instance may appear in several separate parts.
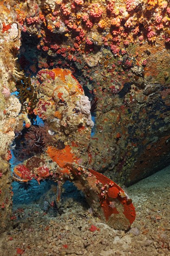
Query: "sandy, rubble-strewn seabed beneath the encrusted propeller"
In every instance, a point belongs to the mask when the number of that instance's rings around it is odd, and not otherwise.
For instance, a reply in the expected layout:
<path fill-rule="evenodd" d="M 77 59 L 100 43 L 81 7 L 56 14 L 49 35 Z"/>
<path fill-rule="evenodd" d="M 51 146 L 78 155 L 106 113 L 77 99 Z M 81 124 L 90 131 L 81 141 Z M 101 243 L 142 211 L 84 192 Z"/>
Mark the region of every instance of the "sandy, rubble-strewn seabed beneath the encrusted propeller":
<path fill-rule="evenodd" d="M 125 190 L 137 212 L 130 230 L 111 229 L 70 198 L 61 216 L 50 216 L 40 199 L 15 211 L 13 229 L 0 236 L 0 256 L 170 255 L 170 166 Z"/>

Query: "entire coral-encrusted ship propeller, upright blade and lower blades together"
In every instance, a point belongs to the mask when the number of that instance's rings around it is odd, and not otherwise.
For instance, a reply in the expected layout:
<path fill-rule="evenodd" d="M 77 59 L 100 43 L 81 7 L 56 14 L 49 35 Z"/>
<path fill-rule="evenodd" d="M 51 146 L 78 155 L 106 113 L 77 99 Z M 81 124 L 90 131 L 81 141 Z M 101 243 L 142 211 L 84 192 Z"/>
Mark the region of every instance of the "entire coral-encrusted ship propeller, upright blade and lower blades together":
<path fill-rule="evenodd" d="M 63 183 L 74 182 L 96 216 L 115 229 L 128 229 L 135 220 L 131 199 L 115 182 L 87 167 L 93 122 L 83 88 L 71 71 L 60 68 L 39 71 L 32 84 L 38 95 L 34 114 L 46 126 L 32 127 L 25 135 L 24 152 L 32 154 L 14 168 L 13 178 L 58 182 L 58 200 Z"/>

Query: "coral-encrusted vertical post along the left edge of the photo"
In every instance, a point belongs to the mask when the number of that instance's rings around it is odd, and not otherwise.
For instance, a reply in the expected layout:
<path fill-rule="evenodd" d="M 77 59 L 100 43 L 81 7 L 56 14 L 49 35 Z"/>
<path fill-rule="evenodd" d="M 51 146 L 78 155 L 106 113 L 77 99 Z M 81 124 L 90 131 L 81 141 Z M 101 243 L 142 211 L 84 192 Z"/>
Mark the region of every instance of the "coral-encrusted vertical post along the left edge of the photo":
<path fill-rule="evenodd" d="M 10 144 L 19 123 L 20 102 L 10 94 L 15 90 L 16 78 L 20 73 L 16 68 L 13 50 L 20 47 L 20 30 L 14 22 L 14 13 L 10 7 L 0 2 L 0 233 L 7 231 L 11 222 L 12 190 L 9 160 Z"/>

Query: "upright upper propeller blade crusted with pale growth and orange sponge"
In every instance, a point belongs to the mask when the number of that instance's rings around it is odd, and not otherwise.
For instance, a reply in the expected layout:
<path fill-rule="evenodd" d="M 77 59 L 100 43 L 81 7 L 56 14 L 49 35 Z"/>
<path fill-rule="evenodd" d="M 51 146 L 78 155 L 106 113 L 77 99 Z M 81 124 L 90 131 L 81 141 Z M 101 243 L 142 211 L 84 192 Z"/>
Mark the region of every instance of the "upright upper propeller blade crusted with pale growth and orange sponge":
<path fill-rule="evenodd" d="M 90 101 L 83 88 L 67 69 L 39 71 L 33 80 L 39 101 L 34 113 L 54 132 L 56 140 L 69 145 L 77 157 L 87 161 L 93 122 Z"/>

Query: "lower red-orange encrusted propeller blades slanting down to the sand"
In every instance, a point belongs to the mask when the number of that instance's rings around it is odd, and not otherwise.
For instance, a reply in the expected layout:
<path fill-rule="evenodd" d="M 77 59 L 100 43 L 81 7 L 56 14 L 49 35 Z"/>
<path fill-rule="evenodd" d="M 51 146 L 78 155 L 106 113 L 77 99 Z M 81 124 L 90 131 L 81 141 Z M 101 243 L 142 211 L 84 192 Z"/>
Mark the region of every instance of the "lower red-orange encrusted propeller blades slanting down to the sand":
<path fill-rule="evenodd" d="M 68 156 L 68 159 L 72 162 L 66 162 L 67 151 L 64 149 L 59 151 L 61 151 L 62 168 L 55 162 L 53 155 L 49 153 L 52 152 L 51 149 L 48 150 L 48 155 L 33 156 L 23 162 L 22 165 L 16 166 L 13 171 L 14 180 L 28 182 L 36 179 L 39 182 L 49 178 L 58 182 L 58 200 L 60 200 L 63 183 L 66 180 L 74 182 L 77 188 L 84 192 L 93 213 L 103 222 L 114 229 L 130 228 L 136 213 L 131 199 L 124 190 L 104 175 L 76 164 L 71 155 Z M 56 150 L 54 152 L 56 153 Z M 52 153 L 54 154 L 54 152 Z"/>

